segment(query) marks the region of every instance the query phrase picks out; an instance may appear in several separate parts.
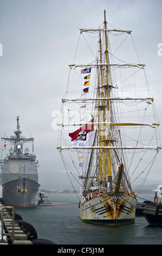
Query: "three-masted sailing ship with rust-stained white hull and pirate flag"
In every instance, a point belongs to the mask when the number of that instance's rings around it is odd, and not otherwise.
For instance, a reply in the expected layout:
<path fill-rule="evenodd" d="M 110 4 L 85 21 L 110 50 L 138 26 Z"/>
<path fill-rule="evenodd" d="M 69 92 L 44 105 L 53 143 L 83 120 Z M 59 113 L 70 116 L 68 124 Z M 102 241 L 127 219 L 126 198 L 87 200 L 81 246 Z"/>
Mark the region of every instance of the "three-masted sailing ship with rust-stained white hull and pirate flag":
<path fill-rule="evenodd" d="M 107 24 L 104 11 L 101 26 L 80 29 L 57 149 L 70 181 L 80 185 L 81 220 L 121 225 L 135 221 L 133 182 L 147 178 L 161 146 L 145 65 L 126 62 L 139 61 L 132 31 Z"/>

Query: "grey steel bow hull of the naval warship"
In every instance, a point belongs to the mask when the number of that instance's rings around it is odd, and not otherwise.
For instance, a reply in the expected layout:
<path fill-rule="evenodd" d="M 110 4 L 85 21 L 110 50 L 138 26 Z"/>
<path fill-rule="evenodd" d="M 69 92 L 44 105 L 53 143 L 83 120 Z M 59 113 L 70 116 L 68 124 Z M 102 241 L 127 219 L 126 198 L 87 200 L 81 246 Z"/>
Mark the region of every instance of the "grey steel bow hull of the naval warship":
<path fill-rule="evenodd" d="M 12 206 L 34 205 L 38 187 L 40 187 L 40 184 L 31 179 L 11 180 L 3 184 L 3 201 L 5 204 Z M 20 192 L 17 191 L 17 188 Z"/>

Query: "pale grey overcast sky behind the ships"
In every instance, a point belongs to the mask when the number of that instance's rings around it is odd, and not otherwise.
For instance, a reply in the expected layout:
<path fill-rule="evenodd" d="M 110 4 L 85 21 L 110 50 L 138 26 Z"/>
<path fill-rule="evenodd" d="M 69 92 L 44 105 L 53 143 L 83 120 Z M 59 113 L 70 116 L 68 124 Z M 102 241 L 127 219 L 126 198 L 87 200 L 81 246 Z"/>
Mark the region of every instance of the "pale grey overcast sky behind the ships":
<path fill-rule="evenodd" d="M 60 110 L 66 92 L 79 28 L 98 28 L 104 9 L 113 27 L 132 30 L 162 123 L 161 0 L 0 0 L 0 136 L 13 135 L 18 114 L 22 134 L 35 139 L 41 188 L 55 188 L 61 178 L 70 186 L 55 149 L 51 114 Z M 161 152 L 148 178 L 162 180 L 160 160 Z"/>

